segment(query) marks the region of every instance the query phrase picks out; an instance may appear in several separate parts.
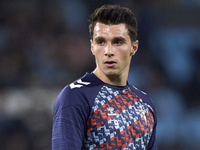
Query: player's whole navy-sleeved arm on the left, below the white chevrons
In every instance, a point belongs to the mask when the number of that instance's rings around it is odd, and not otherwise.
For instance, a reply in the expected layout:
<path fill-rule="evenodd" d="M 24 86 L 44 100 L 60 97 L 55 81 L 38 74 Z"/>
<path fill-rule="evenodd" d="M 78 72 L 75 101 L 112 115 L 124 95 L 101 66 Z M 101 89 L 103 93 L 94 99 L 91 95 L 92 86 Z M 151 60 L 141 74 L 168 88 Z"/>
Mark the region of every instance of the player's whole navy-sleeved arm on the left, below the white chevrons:
<path fill-rule="evenodd" d="M 80 90 L 61 91 L 54 105 L 52 150 L 81 149 L 90 112 L 85 101 Z"/>

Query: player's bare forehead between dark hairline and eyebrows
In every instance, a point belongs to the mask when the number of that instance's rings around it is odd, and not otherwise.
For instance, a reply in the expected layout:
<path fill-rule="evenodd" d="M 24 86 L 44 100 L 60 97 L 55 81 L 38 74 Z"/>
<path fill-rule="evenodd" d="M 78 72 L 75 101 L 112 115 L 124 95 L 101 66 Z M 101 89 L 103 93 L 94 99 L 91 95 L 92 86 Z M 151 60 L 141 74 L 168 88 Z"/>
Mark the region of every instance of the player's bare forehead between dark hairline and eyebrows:
<path fill-rule="evenodd" d="M 126 25 L 121 23 L 117 25 L 106 25 L 97 22 L 94 26 L 94 38 L 96 37 L 124 37 L 129 38 Z"/>

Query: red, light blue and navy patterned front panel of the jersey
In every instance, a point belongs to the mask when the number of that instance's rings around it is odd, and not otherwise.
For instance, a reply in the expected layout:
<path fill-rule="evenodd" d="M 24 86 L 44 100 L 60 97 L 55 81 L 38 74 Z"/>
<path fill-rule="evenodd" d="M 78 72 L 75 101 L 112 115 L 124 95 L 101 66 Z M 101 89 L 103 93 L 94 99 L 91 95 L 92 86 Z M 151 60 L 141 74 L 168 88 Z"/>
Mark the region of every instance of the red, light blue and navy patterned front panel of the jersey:
<path fill-rule="evenodd" d="M 91 112 L 85 149 L 146 149 L 153 132 L 154 111 L 130 88 L 103 86 Z"/>

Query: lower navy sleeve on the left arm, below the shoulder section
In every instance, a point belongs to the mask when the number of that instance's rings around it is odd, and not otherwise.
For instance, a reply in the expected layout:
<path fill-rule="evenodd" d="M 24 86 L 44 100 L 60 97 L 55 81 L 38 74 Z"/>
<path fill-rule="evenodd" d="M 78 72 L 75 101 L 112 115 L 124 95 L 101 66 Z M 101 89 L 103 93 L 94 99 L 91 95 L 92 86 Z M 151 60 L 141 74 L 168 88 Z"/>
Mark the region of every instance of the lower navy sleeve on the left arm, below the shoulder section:
<path fill-rule="evenodd" d="M 52 150 L 80 150 L 86 132 L 88 107 L 69 106 L 53 120 Z"/>

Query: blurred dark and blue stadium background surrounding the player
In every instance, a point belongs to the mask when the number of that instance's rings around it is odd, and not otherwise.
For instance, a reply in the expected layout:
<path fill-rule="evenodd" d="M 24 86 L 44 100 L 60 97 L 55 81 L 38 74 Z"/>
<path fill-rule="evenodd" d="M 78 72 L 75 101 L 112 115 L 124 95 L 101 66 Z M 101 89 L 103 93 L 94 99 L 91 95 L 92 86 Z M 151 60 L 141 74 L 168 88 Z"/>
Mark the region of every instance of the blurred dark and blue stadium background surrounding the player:
<path fill-rule="evenodd" d="M 154 101 L 159 150 L 200 149 L 199 0 L 1 0 L 0 149 L 51 149 L 54 101 L 94 69 L 87 19 L 106 3 L 138 19 L 129 82 Z"/>

